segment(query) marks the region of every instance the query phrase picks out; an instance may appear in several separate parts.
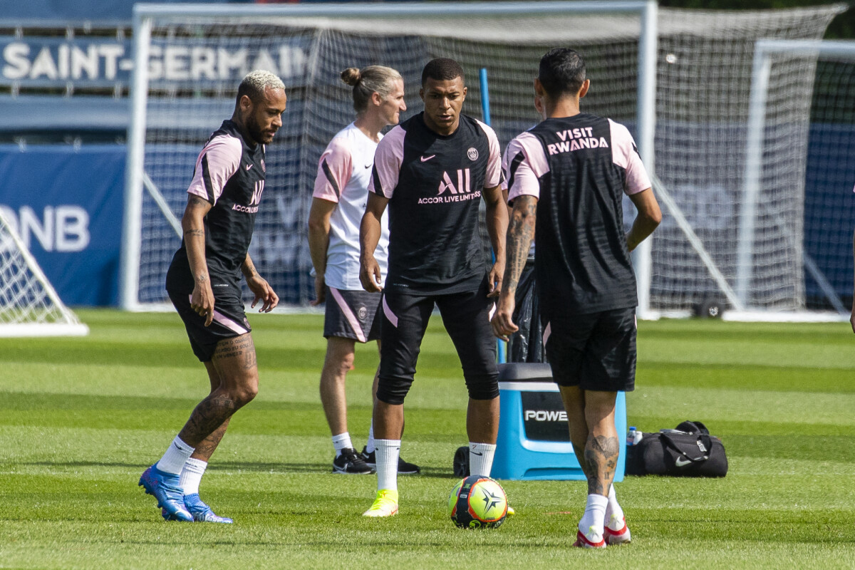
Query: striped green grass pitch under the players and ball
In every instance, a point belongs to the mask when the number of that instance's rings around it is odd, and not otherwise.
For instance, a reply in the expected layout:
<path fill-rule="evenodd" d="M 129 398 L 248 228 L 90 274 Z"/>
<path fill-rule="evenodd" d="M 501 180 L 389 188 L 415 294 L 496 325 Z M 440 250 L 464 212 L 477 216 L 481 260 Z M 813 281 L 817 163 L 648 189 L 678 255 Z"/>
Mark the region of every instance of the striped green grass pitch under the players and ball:
<path fill-rule="evenodd" d="M 202 495 L 232 526 L 164 522 L 137 486 L 206 393 L 174 314 L 86 310 L 86 338 L 0 340 L 0 568 L 852 568 L 855 337 L 848 324 L 641 322 L 642 431 L 702 420 L 725 479 L 628 477 L 633 544 L 573 549 L 581 482 L 506 481 L 516 517 L 462 531 L 445 515 L 466 443 L 465 388 L 434 316 L 407 398 L 401 513 L 360 514 L 373 476 L 330 472 L 318 396 L 321 317 L 251 317 L 261 391 L 234 416 Z M 370 419 L 374 345 L 348 385 Z"/>

